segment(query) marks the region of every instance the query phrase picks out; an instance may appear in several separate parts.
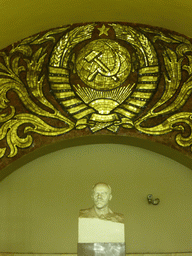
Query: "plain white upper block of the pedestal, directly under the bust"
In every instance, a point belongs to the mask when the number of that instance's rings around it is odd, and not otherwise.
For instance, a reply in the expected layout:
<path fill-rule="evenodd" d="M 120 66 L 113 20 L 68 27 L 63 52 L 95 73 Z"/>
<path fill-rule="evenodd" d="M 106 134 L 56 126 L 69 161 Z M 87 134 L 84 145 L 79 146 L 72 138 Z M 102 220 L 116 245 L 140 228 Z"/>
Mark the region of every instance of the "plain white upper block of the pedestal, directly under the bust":
<path fill-rule="evenodd" d="M 98 218 L 79 218 L 78 243 L 124 243 L 124 224 Z"/>

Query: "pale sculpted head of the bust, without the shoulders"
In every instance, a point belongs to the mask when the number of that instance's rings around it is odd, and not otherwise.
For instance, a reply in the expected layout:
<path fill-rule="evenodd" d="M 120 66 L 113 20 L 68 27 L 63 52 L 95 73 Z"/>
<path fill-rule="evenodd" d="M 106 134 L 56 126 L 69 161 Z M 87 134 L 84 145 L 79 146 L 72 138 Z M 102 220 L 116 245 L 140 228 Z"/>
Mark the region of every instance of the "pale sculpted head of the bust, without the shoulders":
<path fill-rule="evenodd" d="M 107 185 L 98 184 L 93 190 L 92 198 L 97 209 L 105 208 L 112 198 L 111 191 Z"/>

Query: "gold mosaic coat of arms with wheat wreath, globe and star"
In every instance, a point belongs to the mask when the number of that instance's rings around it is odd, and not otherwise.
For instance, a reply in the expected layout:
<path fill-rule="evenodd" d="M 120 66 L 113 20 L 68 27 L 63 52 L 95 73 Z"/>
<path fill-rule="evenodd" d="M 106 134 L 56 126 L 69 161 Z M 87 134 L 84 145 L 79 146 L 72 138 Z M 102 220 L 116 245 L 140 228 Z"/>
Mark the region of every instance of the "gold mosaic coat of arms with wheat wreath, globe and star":
<path fill-rule="evenodd" d="M 58 42 L 49 80 L 55 97 L 77 120 L 77 129 L 116 132 L 120 125 L 133 126 L 155 92 L 158 60 L 147 37 L 133 28 L 103 25 L 93 40 L 94 29 L 94 24 L 77 27 Z M 101 38 L 110 30 L 118 40 Z"/>

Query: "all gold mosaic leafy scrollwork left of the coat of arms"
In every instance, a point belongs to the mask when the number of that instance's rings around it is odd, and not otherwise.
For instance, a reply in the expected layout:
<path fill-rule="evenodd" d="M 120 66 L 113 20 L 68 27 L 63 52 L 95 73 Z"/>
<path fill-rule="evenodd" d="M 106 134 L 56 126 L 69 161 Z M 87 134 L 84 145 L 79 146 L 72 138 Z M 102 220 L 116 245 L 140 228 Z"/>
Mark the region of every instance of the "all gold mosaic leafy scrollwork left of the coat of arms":
<path fill-rule="evenodd" d="M 17 154 L 18 148 L 27 148 L 32 145 L 32 135 L 27 135 L 27 132 L 31 131 L 39 133 L 41 135 L 56 136 L 66 133 L 73 129 L 74 124 L 68 118 L 61 115 L 61 113 L 46 99 L 43 93 L 43 85 L 45 75 L 41 75 L 42 66 L 44 64 L 46 48 L 39 48 L 36 52 L 32 53 L 32 44 L 42 44 L 47 41 L 53 41 L 53 34 L 63 32 L 67 28 L 57 29 L 46 33 L 43 37 L 39 35 L 24 39 L 19 45 L 13 47 L 10 54 L 0 52 L 0 57 L 3 57 L 4 63 L 0 63 L 0 121 L 2 124 L 0 128 L 0 140 L 6 138 L 7 144 L 10 149 L 8 157 L 13 157 Z M 20 57 L 15 56 L 16 52 L 23 54 L 23 60 L 25 66 L 20 65 Z M 32 56 L 29 60 L 25 58 Z M 23 83 L 20 78 L 20 73 L 26 73 L 26 83 Z M 45 110 L 40 107 L 30 96 L 30 93 L 39 101 L 42 105 L 49 108 Z M 16 114 L 15 106 L 8 105 L 9 100 L 7 98 L 8 91 L 14 91 L 28 109 L 33 114 Z M 65 123 L 63 128 L 53 128 L 51 125 L 43 121 L 39 116 L 58 119 Z M 24 137 L 18 135 L 18 129 L 20 126 L 26 125 L 24 129 Z M 1 148 L 0 157 L 3 157 L 6 153 L 6 148 Z"/>

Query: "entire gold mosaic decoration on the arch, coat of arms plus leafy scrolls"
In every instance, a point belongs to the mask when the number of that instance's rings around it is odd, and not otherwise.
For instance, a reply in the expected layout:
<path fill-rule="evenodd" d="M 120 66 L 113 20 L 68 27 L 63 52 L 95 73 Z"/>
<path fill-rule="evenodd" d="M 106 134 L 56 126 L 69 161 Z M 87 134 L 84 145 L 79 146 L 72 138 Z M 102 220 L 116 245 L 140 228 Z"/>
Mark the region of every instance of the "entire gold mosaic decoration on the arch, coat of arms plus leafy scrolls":
<path fill-rule="evenodd" d="M 34 133 L 58 136 L 85 128 L 159 136 L 177 131 L 176 143 L 191 147 L 192 113 L 181 110 L 191 93 L 192 44 L 183 36 L 121 23 L 31 36 L 0 52 L 0 141 L 8 146 L 0 157 L 8 148 L 7 156 L 14 157 L 30 147 Z"/>

